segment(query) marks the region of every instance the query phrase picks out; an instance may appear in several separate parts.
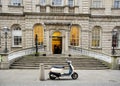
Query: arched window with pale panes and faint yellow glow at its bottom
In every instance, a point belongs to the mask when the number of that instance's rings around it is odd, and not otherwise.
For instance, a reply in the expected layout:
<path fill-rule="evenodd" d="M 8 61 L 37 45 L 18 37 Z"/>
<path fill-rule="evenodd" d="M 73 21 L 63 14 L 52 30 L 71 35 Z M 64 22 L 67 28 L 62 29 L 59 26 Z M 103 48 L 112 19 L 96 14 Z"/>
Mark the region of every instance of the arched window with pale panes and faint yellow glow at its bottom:
<path fill-rule="evenodd" d="M 92 30 L 92 47 L 100 47 L 101 43 L 101 27 L 96 26 Z"/>

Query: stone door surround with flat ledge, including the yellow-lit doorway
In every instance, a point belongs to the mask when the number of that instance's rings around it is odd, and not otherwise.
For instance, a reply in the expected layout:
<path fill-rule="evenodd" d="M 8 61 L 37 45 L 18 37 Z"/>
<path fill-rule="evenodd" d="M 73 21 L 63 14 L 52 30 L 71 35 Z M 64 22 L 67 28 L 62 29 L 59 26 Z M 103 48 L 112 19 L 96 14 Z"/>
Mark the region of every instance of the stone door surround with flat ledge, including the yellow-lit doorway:
<path fill-rule="evenodd" d="M 50 54 L 65 54 L 68 52 L 70 24 L 45 23 L 46 50 Z M 55 47 L 58 49 L 55 52 Z"/>

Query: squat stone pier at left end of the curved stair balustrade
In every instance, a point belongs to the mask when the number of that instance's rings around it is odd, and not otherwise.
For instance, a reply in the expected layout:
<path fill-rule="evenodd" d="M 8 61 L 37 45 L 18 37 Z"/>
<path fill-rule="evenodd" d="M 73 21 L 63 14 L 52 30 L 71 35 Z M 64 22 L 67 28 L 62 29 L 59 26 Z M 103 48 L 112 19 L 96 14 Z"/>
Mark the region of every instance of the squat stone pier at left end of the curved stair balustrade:
<path fill-rule="evenodd" d="M 8 54 L 1 54 L 0 69 L 9 69 Z"/>

